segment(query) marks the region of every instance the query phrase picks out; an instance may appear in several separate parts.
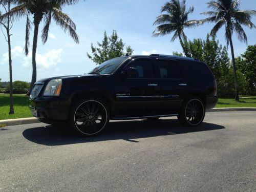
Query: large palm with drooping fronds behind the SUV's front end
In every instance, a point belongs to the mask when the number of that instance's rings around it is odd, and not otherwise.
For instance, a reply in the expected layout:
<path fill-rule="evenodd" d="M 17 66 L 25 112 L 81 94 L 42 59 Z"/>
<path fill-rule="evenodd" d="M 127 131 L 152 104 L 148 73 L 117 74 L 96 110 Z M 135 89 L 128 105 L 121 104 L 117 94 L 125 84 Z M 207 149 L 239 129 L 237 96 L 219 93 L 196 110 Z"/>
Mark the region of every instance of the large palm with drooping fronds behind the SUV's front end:
<path fill-rule="evenodd" d="M 52 19 L 55 23 L 60 26 L 61 29 L 66 32 L 68 30 L 69 35 L 78 44 L 78 35 L 76 34 L 76 25 L 72 19 L 62 12 L 62 7 L 65 5 L 73 5 L 79 0 L 15 0 L 17 5 L 11 10 L 11 14 L 19 16 L 27 16 L 26 24 L 26 43 L 25 43 L 25 53 L 29 53 L 29 35 L 31 30 L 31 21 L 29 15 L 33 15 L 34 24 L 34 36 L 33 36 L 33 47 L 32 47 L 32 80 L 30 84 L 30 91 L 36 81 L 36 49 L 37 49 L 37 37 L 39 31 L 39 24 L 41 21 L 44 22 L 44 27 L 42 28 L 41 39 L 43 44 L 46 43 L 48 38 L 49 27 Z"/>

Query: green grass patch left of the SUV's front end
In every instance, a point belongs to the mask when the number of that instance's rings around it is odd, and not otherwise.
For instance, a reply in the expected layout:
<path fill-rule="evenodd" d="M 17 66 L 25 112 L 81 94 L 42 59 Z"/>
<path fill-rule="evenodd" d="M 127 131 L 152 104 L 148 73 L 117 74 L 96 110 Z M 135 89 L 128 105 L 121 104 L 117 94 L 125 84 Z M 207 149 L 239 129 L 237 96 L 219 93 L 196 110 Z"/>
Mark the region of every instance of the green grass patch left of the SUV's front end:
<path fill-rule="evenodd" d="M 0 94 L 0 120 L 32 117 L 28 107 L 28 97 L 14 94 L 14 115 L 9 115 L 9 94 Z"/>

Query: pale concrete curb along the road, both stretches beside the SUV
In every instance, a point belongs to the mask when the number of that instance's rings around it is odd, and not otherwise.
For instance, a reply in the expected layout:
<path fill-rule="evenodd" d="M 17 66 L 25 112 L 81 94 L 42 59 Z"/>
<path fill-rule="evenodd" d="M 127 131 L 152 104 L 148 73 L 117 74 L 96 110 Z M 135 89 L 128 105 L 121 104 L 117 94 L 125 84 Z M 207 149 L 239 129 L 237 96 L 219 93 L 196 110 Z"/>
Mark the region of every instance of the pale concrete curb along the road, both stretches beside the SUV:
<path fill-rule="evenodd" d="M 214 108 L 214 109 L 206 110 L 206 112 L 225 112 L 225 111 L 256 111 L 256 108 Z M 0 120 L 0 124 L 4 124 L 6 126 L 31 124 L 31 123 L 40 123 L 40 121 L 35 117 Z"/>

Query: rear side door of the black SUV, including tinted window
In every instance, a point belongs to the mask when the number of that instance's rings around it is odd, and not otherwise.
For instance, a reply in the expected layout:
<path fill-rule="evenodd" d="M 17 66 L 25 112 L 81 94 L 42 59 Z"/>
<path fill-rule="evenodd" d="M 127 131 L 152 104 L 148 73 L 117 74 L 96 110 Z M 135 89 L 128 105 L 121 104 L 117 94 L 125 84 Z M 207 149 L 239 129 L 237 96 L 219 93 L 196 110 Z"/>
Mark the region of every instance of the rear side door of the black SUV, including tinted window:
<path fill-rule="evenodd" d="M 156 59 L 155 71 L 160 86 L 160 106 L 167 112 L 176 112 L 182 104 L 181 94 L 186 89 L 177 60 Z"/>

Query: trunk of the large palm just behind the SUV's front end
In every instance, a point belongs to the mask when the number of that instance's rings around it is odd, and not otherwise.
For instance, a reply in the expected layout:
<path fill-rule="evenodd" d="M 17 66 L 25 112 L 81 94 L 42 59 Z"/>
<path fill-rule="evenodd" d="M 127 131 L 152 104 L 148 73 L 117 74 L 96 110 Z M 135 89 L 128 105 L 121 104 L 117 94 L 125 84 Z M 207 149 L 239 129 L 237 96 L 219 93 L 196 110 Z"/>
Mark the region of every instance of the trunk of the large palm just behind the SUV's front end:
<path fill-rule="evenodd" d="M 39 23 L 37 22 L 36 19 L 34 19 L 34 37 L 33 37 L 33 48 L 32 48 L 32 79 L 31 79 L 31 84 L 30 84 L 30 91 L 32 91 L 32 88 L 34 86 L 34 83 L 36 82 L 36 48 L 37 48 L 37 37 L 38 37 L 38 28 L 39 28 Z"/>

